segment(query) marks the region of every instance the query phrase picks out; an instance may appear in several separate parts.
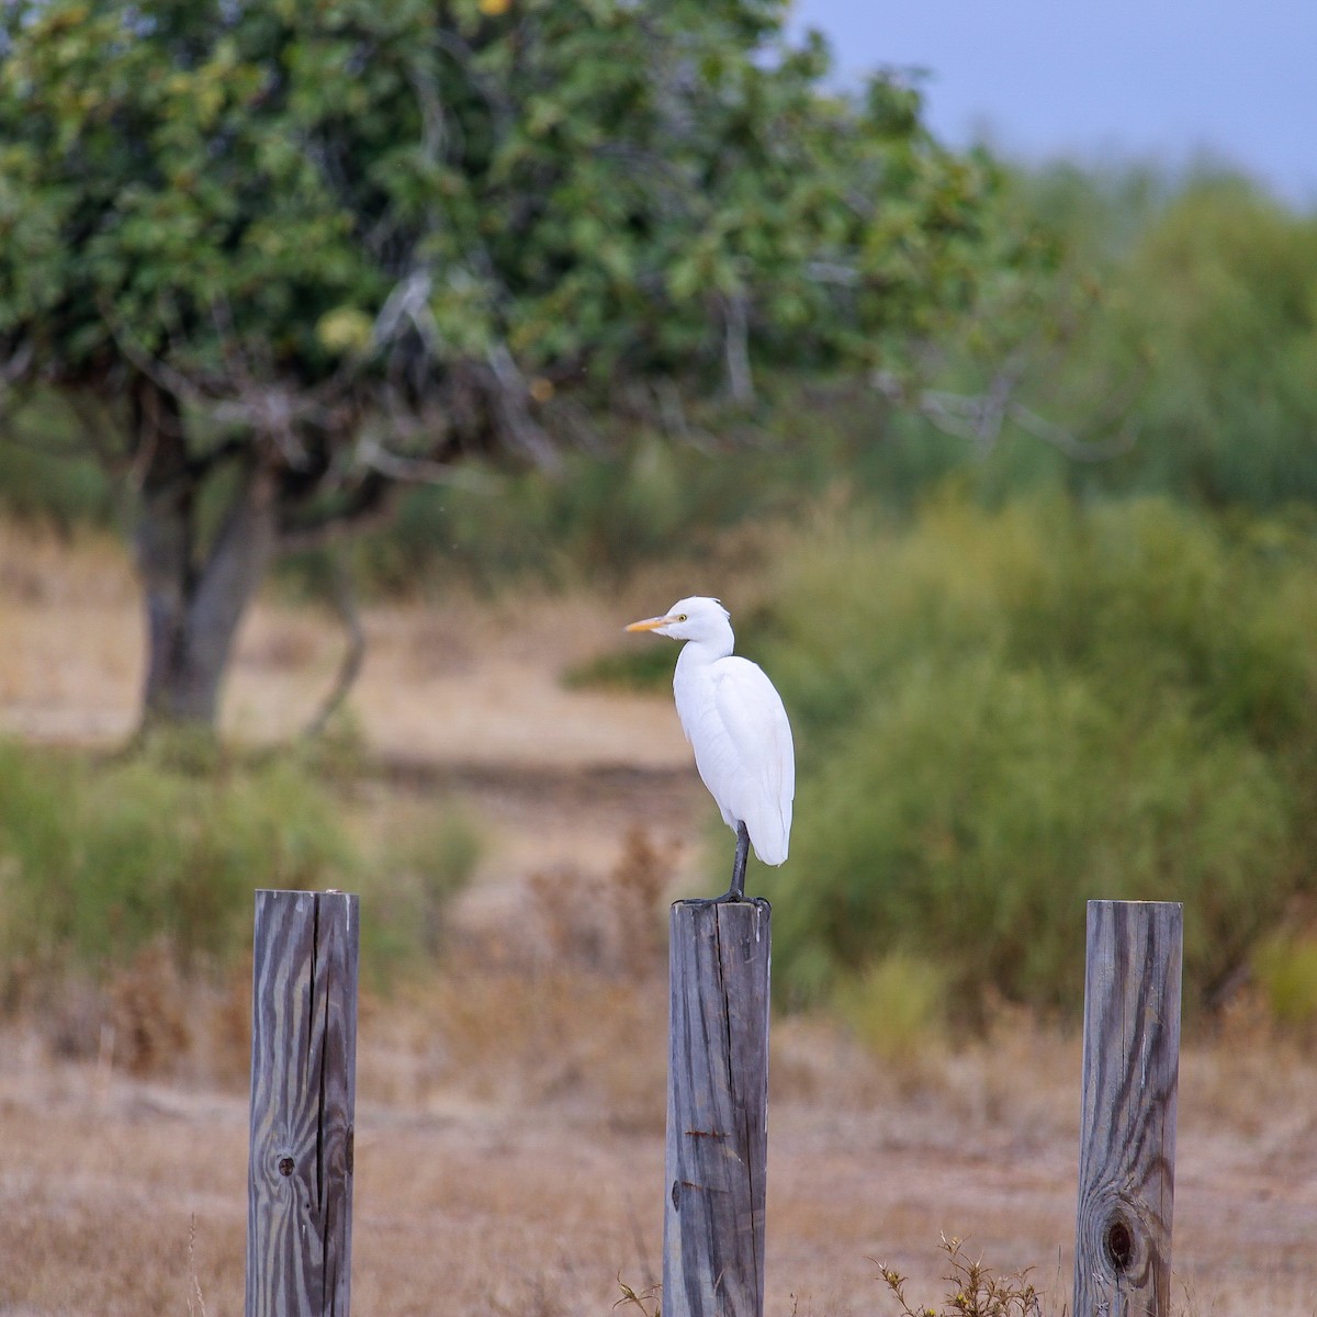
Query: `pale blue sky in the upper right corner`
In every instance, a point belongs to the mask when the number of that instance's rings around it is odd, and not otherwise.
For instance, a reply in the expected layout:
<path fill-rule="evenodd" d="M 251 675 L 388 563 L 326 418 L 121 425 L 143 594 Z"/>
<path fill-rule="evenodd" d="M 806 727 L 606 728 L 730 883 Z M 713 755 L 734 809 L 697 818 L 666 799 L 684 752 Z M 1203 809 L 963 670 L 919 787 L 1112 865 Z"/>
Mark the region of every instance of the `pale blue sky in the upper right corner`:
<path fill-rule="evenodd" d="M 794 0 L 843 80 L 923 66 L 928 120 L 1009 155 L 1210 151 L 1317 208 L 1317 0 Z"/>

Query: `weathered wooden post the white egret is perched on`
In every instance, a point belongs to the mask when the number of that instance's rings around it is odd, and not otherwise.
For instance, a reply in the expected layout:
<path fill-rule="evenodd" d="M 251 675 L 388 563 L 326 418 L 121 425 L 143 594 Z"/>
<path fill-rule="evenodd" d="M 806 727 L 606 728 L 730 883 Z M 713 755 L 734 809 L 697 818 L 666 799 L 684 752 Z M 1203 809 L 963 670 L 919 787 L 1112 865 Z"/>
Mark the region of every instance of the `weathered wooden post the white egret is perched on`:
<path fill-rule="evenodd" d="M 766 901 L 672 907 L 664 1317 L 763 1317 Z"/>

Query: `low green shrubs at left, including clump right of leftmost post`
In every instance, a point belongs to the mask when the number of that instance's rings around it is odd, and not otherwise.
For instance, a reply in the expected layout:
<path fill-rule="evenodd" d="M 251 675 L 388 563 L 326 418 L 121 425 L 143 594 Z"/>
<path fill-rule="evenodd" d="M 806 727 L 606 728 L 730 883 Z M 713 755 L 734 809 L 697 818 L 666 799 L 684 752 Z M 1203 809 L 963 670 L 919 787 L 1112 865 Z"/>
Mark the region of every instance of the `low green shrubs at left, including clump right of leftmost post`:
<path fill-rule="evenodd" d="M 441 813 L 377 853 L 295 759 L 202 763 L 174 740 L 92 765 L 0 743 L 0 964 L 97 971 L 165 943 L 184 968 L 225 965 L 250 946 L 255 888 L 365 888 L 365 972 L 387 982 L 439 952 L 479 849 Z"/>

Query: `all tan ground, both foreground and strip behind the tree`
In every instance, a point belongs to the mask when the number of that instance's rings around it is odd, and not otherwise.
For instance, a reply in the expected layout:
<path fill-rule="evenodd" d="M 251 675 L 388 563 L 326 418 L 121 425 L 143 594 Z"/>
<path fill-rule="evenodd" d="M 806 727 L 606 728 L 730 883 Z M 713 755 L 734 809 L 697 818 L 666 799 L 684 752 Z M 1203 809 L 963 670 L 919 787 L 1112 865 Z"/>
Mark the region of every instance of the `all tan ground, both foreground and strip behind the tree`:
<path fill-rule="evenodd" d="M 560 682 L 670 593 L 369 612 L 353 706 L 385 765 L 378 790 L 414 809 L 456 794 L 486 820 L 469 928 L 497 925 L 536 873 L 606 874 L 637 827 L 676 890 L 695 881 L 707 806 L 666 697 Z M 122 738 L 136 607 L 116 551 L 0 528 L 0 732 Z M 262 605 L 228 734 L 296 728 L 337 643 L 327 619 Z M 661 975 L 587 986 L 595 996 L 576 997 L 552 971 L 523 997 L 504 982 L 497 1018 L 477 1009 L 478 976 L 363 1005 L 354 1310 L 602 1314 L 619 1277 L 637 1291 L 657 1279 Z M 474 1011 L 479 1083 L 437 1054 L 454 1010 Z M 940 1301 L 942 1235 L 998 1271 L 1034 1268 L 1044 1310 L 1060 1313 L 1079 1080 L 1077 1040 L 1022 1018 L 900 1068 L 826 1023 L 776 1021 L 770 1317 L 896 1313 L 873 1259 L 911 1276 L 911 1301 Z M 240 1081 L 137 1080 L 104 1058 L 59 1059 L 30 1022 L 0 1033 L 0 1317 L 240 1312 L 246 1134 Z M 1175 1309 L 1317 1313 L 1317 1064 L 1243 1015 L 1183 1058 Z"/>

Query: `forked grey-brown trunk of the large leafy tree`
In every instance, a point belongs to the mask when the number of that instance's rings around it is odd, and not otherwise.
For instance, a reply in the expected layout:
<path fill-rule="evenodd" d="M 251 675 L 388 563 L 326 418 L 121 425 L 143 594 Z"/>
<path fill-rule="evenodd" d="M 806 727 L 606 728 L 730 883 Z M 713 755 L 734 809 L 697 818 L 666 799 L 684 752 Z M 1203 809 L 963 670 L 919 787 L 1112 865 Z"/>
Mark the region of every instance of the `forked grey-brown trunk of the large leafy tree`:
<path fill-rule="evenodd" d="M 202 477 L 188 457 L 183 419 L 169 395 L 134 398 L 144 456 L 137 570 L 146 605 L 148 662 L 142 730 L 215 727 L 233 637 L 275 548 L 277 482 L 248 466 L 204 553 L 198 547 Z"/>

